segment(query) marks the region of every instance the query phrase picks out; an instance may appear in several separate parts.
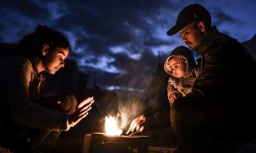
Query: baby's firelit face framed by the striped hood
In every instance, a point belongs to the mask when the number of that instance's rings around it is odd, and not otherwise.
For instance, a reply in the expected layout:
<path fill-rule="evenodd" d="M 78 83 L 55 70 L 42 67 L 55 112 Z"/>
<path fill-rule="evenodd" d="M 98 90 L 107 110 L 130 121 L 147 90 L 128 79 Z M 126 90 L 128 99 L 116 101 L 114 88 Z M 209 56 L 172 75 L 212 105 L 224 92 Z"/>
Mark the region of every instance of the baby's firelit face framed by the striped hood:
<path fill-rule="evenodd" d="M 169 60 L 170 68 L 172 69 L 172 75 L 175 77 L 181 78 L 185 75 L 186 72 L 186 63 L 185 59 L 178 57 L 172 57 Z"/>

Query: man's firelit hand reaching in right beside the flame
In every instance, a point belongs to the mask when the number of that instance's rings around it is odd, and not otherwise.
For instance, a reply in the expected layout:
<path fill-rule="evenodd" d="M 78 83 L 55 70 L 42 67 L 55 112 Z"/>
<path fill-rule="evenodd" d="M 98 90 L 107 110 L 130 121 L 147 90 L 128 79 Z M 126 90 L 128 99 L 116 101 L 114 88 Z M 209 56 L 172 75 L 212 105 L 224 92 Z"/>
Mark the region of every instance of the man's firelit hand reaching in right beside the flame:
<path fill-rule="evenodd" d="M 130 124 L 130 128 L 126 132 L 126 134 L 130 132 L 143 132 L 144 131 L 144 125 L 146 124 L 146 117 L 144 115 L 138 116 L 135 118 L 132 123 Z"/>

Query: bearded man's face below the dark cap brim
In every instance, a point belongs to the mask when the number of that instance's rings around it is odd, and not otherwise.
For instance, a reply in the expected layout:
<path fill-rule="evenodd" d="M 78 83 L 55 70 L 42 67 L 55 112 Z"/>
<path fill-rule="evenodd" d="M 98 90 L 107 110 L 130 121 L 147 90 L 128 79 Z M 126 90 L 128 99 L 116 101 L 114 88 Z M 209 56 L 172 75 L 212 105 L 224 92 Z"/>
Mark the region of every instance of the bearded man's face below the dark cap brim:
<path fill-rule="evenodd" d="M 202 43 L 204 33 L 200 31 L 199 27 L 195 23 L 190 23 L 180 31 L 182 36 L 182 42 L 186 43 L 188 47 L 195 50 Z"/>

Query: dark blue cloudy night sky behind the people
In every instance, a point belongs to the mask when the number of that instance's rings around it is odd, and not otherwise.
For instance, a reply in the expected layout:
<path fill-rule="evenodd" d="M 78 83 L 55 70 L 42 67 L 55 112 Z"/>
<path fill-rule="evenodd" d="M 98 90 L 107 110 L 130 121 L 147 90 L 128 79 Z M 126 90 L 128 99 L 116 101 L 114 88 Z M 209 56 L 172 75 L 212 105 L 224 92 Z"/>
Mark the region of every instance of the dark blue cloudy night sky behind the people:
<path fill-rule="evenodd" d="M 210 12 L 213 26 L 238 41 L 256 34 L 256 0 L 0 0 L 0 43 L 18 44 L 46 24 L 69 39 L 68 59 L 98 86 L 144 91 L 158 55 L 165 61 L 183 45 L 180 34 L 166 31 L 182 8 L 195 3 Z"/>

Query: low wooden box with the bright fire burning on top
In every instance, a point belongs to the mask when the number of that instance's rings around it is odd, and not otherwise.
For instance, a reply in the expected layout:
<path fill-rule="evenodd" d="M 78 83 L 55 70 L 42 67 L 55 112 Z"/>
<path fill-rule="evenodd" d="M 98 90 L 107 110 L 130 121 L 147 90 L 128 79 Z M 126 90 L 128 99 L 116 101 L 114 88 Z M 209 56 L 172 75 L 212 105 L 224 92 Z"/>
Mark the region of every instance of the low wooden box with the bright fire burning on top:
<path fill-rule="evenodd" d="M 83 153 L 132 153 L 133 149 L 147 153 L 149 137 L 136 135 L 140 132 L 124 133 L 118 124 L 118 115 L 105 117 L 105 130 L 106 133 L 84 135 Z"/>

